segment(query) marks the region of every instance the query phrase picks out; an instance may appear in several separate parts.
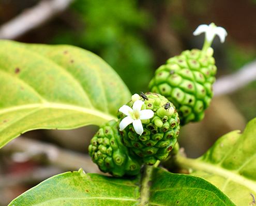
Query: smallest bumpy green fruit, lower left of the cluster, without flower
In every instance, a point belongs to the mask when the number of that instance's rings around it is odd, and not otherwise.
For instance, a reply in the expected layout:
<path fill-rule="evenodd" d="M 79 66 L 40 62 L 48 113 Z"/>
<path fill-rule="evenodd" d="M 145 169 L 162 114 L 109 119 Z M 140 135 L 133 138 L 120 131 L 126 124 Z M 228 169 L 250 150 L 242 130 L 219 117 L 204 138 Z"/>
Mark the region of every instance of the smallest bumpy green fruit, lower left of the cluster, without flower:
<path fill-rule="evenodd" d="M 114 120 L 100 127 L 91 140 L 88 150 L 99 169 L 115 177 L 137 175 L 143 163 L 122 144 L 122 136 Z"/>

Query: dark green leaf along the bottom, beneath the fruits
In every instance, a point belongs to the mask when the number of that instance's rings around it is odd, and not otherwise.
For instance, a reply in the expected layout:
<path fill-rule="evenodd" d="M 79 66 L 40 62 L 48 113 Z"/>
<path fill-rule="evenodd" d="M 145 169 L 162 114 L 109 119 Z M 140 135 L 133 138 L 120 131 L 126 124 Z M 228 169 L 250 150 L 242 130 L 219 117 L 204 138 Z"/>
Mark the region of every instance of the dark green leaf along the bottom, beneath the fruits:
<path fill-rule="evenodd" d="M 143 178 L 140 175 L 130 179 L 85 175 L 80 169 L 41 182 L 9 206 L 146 205 L 140 194 Z M 155 168 L 149 180 L 146 183 L 150 185 L 148 205 L 234 205 L 216 186 L 199 177 Z"/>

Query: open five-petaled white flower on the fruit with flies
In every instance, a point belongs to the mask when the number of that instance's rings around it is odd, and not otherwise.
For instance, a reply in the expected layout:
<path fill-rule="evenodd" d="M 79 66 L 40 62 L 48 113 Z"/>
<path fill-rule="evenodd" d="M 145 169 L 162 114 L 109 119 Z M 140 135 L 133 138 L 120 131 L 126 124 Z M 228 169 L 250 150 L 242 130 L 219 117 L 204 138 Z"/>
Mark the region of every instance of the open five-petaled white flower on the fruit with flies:
<path fill-rule="evenodd" d="M 149 109 L 141 110 L 144 101 L 136 100 L 133 104 L 133 109 L 127 105 L 123 105 L 119 111 L 127 115 L 119 124 L 120 131 L 124 130 L 129 124 L 132 123 L 134 130 L 137 134 L 143 133 L 143 126 L 141 119 L 150 119 L 154 116 L 154 112 Z"/>

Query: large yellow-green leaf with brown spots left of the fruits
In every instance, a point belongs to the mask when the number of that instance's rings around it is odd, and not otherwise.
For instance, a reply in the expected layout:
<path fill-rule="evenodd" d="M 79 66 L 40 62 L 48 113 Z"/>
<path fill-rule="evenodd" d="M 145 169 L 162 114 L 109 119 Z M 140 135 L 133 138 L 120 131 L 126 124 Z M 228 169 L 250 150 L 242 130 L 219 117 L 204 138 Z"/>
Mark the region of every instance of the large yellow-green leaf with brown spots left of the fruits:
<path fill-rule="evenodd" d="M 0 148 L 33 129 L 116 119 L 131 94 L 101 58 L 69 45 L 0 41 Z"/>

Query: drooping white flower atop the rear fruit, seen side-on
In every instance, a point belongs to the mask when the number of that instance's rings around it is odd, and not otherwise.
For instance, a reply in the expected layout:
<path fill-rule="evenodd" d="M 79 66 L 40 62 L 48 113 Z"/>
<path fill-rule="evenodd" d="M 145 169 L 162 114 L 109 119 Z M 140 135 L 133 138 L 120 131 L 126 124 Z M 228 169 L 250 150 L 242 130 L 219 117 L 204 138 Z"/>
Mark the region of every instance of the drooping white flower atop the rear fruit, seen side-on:
<path fill-rule="evenodd" d="M 203 32 L 205 32 L 205 39 L 209 43 L 212 43 L 215 35 L 218 35 L 220 38 L 220 42 L 223 43 L 225 41 L 225 37 L 228 35 L 227 31 L 224 28 L 216 26 L 214 23 L 211 23 L 209 25 L 202 24 L 198 26 L 198 28 L 195 29 L 195 31 L 193 32 L 193 35 L 197 36 Z"/>

